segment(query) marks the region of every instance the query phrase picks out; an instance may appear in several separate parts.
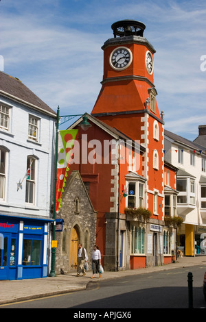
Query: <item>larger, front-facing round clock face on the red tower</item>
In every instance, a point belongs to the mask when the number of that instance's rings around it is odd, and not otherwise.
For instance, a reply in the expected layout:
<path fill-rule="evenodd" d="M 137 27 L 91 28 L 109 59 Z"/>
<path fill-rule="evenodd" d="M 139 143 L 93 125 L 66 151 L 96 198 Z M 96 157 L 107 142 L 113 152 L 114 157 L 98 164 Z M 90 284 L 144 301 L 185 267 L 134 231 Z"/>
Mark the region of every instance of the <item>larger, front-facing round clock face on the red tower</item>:
<path fill-rule="evenodd" d="M 109 58 L 109 63 L 113 69 L 122 71 L 126 69 L 133 60 L 133 54 L 127 47 L 115 48 Z"/>

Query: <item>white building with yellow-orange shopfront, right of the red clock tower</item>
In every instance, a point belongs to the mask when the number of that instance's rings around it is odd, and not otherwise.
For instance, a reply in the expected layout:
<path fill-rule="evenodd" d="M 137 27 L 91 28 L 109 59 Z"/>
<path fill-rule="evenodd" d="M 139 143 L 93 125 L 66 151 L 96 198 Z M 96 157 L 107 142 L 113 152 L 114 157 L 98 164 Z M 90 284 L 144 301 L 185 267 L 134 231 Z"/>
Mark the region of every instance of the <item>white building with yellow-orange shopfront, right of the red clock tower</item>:
<path fill-rule="evenodd" d="M 164 134 L 165 160 L 178 169 L 177 214 L 184 220 L 178 246 L 184 247 L 185 256 L 205 254 L 206 148 L 197 139 L 192 142 L 166 130 Z"/>

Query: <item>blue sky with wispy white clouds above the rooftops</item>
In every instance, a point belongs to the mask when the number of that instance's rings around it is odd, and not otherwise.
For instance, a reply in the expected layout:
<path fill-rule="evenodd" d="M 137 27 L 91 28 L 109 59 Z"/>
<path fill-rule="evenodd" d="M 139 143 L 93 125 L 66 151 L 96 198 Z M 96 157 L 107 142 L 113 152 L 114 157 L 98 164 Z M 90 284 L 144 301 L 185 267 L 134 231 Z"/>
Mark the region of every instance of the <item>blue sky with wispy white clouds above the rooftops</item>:
<path fill-rule="evenodd" d="M 91 113 L 101 89 L 101 47 L 113 38 L 111 25 L 123 19 L 143 22 L 157 51 L 154 77 L 165 129 L 194 140 L 198 125 L 206 124 L 205 0 L 1 0 L 4 72 L 53 110 L 60 106 L 61 115 Z"/>

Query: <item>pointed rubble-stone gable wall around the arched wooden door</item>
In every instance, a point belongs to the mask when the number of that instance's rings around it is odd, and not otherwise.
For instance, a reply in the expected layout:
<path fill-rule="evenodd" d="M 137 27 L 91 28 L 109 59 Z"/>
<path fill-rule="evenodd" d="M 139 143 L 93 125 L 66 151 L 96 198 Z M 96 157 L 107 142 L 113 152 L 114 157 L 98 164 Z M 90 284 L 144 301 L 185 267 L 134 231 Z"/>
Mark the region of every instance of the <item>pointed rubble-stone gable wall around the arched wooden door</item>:
<path fill-rule="evenodd" d="M 56 249 L 56 274 L 69 273 L 71 268 L 71 232 L 76 230 L 78 241 L 87 249 L 91 269 L 91 253 L 95 245 L 96 212 L 93 209 L 87 189 L 82 182 L 80 173 L 72 171 L 62 194 L 62 208 L 57 218 L 63 219 L 63 231 L 56 232 L 58 247 Z M 74 268 L 76 269 L 76 267 Z"/>

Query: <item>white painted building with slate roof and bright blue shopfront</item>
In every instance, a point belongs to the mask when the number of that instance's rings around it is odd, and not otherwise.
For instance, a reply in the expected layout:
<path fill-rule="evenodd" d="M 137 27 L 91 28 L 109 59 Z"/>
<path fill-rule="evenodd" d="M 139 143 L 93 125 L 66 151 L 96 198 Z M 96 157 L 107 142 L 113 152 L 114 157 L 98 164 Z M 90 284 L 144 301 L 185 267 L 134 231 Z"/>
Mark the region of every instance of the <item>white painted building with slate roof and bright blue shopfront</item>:
<path fill-rule="evenodd" d="M 47 276 L 55 122 L 56 112 L 0 72 L 0 280 Z"/>

